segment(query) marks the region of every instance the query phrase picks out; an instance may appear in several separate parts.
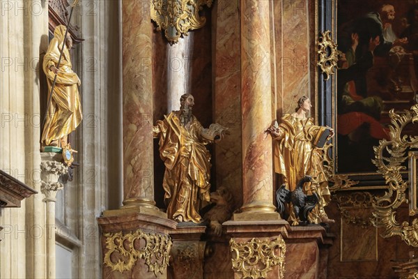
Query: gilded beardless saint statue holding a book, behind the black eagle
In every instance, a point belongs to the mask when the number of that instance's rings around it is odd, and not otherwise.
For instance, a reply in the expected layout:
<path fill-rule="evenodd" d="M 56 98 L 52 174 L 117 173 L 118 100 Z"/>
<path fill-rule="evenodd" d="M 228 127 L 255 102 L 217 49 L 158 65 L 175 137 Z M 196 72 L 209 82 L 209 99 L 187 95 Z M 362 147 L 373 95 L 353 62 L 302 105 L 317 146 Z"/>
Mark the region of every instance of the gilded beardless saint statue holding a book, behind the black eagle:
<path fill-rule="evenodd" d="M 311 100 L 307 96 L 302 96 L 297 101 L 293 114 L 285 114 L 279 125 L 275 122 L 268 128 L 273 138 L 274 171 L 281 174 L 283 182 L 290 191 L 295 190 L 298 181 L 304 176 L 311 176 L 314 181 L 304 183 L 304 192 L 316 193 L 319 202 L 309 213 L 308 219 L 315 224 L 334 223 L 324 210 L 324 206 L 330 202 L 330 190 L 323 171 L 323 150 L 314 144 L 320 136 L 318 133 L 321 133 L 325 127 L 314 125 L 313 119 L 307 116 L 311 107 Z M 334 135 L 334 130 L 331 128 L 328 130 L 330 135 L 327 140 Z M 288 222 L 298 225 L 299 220 L 293 209 L 289 209 L 288 213 Z"/>

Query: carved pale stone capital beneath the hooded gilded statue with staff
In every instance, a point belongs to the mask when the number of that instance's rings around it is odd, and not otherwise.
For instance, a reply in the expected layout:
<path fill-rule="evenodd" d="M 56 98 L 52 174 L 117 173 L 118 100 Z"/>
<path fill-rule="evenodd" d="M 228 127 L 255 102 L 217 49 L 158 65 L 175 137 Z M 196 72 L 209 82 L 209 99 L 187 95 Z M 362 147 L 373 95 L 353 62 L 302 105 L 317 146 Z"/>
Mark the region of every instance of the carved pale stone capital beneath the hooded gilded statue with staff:
<path fill-rule="evenodd" d="M 42 153 L 40 163 L 40 190 L 45 195 L 44 202 L 55 202 L 56 192 L 63 188 L 59 181 L 63 174 L 68 172 L 68 167 L 63 163 L 54 160 L 55 153 Z"/>

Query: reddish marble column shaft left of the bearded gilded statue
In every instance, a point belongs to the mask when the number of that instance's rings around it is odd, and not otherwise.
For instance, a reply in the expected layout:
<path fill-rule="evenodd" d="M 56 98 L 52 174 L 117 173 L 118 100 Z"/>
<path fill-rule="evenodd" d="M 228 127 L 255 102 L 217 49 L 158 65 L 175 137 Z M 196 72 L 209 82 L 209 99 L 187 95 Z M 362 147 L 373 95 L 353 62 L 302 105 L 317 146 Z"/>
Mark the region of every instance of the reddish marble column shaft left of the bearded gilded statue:
<path fill-rule="evenodd" d="M 152 24 L 149 4 L 122 1 L 125 206 L 154 202 Z"/>

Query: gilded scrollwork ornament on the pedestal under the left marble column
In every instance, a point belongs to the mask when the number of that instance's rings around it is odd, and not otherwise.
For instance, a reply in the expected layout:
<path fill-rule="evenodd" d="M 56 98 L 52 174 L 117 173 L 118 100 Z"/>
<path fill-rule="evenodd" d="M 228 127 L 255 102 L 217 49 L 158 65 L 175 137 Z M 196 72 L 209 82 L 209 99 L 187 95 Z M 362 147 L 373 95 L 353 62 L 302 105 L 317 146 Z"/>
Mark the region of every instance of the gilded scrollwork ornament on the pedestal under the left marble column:
<path fill-rule="evenodd" d="M 148 271 L 157 277 L 157 273 L 163 273 L 169 264 L 169 252 L 173 244 L 169 236 L 147 233 L 141 229 L 128 234 L 107 232 L 103 235 L 107 248 L 103 262 L 112 271 L 131 270 L 138 259 L 144 259 Z"/>

